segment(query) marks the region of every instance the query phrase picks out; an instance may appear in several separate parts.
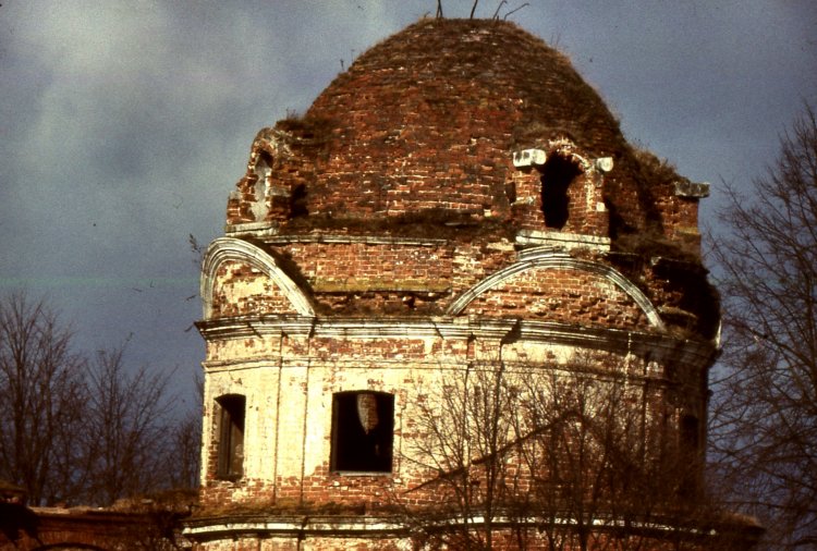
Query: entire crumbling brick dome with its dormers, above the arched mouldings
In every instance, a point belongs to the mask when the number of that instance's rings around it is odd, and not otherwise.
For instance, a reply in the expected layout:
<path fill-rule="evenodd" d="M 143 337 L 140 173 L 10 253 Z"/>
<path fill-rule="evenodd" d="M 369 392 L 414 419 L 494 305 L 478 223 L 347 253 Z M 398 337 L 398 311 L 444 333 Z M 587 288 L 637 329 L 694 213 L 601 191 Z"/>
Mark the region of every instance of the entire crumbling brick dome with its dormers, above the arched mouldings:
<path fill-rule="evenodd" d="M 329 296 L 320 304 L 331 313 L 404 311 L 416 297 L 400 293 L 422 289 L 435 296 L 412 311 L 438 315 L 438 292 L 539 247 L 603 256 L 681 296 L 692 276 L 639 271 L 673 271 L 653 261 L 666 257 L 704 277 L 697 198 L 678 184 L 540 39 L 501 21 L 423 20 L 362 54 L 303 117 L 258 134 L 227 233 L 275 256 L 270 273 Z M 450 264 L 427 276 L 429 262 Z M 368 306 L 353 294 L 373 290 L 386 295 Z"/>

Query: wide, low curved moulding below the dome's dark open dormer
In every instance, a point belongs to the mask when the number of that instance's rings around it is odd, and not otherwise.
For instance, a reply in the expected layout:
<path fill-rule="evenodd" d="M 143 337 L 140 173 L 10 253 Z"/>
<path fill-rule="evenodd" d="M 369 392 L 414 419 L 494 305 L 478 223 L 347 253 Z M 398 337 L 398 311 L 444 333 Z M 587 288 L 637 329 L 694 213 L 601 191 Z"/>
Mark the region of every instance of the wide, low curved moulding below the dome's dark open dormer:
<path fill-rule="evenodd" d="M 630 296 L 642 311 L 644 311 L 650 326 L 661 330 L 664 328 L 663 321 L 661 321 L 661 317 L 658 315 L 658 310 L 653 306 L 649 298 L 647 298 L 647 296 L 629 279 L 622 276 L 621 272 L 602 264 L 573 258 L 565 253 L 554 250 L 550 247 L 527 250 L 520 261 L 485 278 L 483 281 L 456 297 L 456 299 L 451 303 L 451 306 L 448 307 L 447 314 L 450 316 L 459 316 L 468 304 L 486 291 L 499 286 L 503 281 L 520 272 L 541 268 L 576 270 L 600 276 Z"/>

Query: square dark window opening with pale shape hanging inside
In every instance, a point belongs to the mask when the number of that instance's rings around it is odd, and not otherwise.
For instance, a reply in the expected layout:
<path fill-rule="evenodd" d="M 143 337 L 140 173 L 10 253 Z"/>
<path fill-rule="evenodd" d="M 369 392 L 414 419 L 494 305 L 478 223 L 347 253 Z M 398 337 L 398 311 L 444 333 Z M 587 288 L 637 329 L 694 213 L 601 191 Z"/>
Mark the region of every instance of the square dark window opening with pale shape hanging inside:
<path fill-rule="evenodd" d="M 339 392 L 332 400 L 331 469 L 391 473 L 394 396 Z"/>

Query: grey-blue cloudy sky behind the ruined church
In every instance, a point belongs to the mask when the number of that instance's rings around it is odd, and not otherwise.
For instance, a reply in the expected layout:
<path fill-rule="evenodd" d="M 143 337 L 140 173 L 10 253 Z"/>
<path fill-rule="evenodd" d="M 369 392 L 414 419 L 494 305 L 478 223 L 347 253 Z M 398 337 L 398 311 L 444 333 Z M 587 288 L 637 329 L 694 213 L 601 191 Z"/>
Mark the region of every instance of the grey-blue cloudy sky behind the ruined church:
<path fill-rule="evenodd" d="M 571 57 L 632 143 L 716 184 L 715 223 L 717 184 L 748 191 L 817 106 L 814 0 L 527 1 L 510 20 Z M 255 133 L 437 5 L 0 3 L 0 293 L 48 296 L 86 351 L 130 336 L 130 362 L 178 368 L 183 396 L 204 358 L 188 235 L 222 234 Z M 442 4 L 467 17 L 472 1 Z"/>

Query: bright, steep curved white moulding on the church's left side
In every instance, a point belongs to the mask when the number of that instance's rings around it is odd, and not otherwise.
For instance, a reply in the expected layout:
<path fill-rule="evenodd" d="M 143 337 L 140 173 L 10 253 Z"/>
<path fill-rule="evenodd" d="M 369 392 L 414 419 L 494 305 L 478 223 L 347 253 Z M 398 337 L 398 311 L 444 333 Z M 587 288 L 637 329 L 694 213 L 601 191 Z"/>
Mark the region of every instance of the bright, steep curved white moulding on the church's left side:
<path fill-rule="evenodd" d="M 260 247 L 235 237 L 219 237 L 207 248 L 202 266 L 202 302 L 204 318 L 212 316 L 212 287 L 219 266 L 228 260 L 244 261 L 269 277 L 302 316 L 315 316 L 309 299 L 292 279 L 276 264 L 275 258 Z"/>

